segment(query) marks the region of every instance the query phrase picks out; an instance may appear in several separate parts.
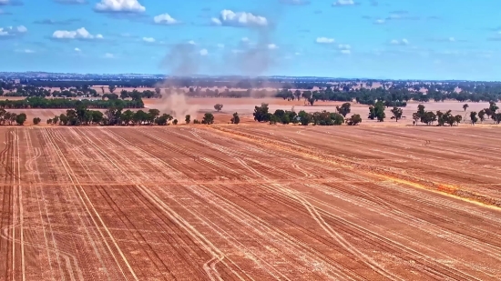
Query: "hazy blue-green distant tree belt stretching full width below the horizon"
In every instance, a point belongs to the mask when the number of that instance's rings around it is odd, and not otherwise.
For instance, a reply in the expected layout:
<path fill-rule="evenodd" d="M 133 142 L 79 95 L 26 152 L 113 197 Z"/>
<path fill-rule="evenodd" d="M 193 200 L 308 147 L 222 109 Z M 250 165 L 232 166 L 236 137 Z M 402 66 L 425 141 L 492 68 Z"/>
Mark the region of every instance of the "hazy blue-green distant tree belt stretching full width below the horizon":
<path fill-rule="evenodd" d="M 41 82 L 41 81 L 39 81 Z M 47 82 L 47 81 L 43 81 Z M 50 81 L 48 81 L 50 82 Z M 68 82 L 68 81 L 62 81 Z M 88 83 L 88 81 L 76 81 Z M 101 81 L 102 82 L 102 81 Z M 114 83 L 117 81 L 114 81 Z M 155 84 L 153 84 L 155 85 Z M 151 86 L 153 86 L 151 85 Z M 39 85 L 11 85 L 2 84 L 0 95 L 8 96 L 102 96 L 107 99 L 118 98 L 150 98 L 169 95 L 172 92 L 187 92 L 191 97 L 281 97 L 288 100 L 304 99 L 305 103 L 313 105 L 317 101 L 356 101 L 363 105 L 374 105 L 376 101 L 383 101 L 385 106 L 405 106 L 407 101 L 418 102 L 456 100 L 459 102 L 488 102 L 501 100 L 501 83 L 444 83 L 444 84 L 414 84 L 409 82 L 385 82 L 382 86 L 372 88 L 373 82 L 364 82 L 361 86 L 357 82 L 340 83 L 339 85 L 324 85 L 318 90 L 304 88 L 290 88 L 289 85 L 281 89 L 259 89 L 250 87 L 247 89 L 221 88 L 211 89 L 202 86 L 179 87 L 174 85 L 162 85 L 152 90 L 126 91 L 119 87 L 132 85 L 110 84 L 101 86 L 99 91 L 90 85 L 61 85 L 59 90 L 51 91 Z M 136 85 L 142 86 L 142 85 Z M 234 85 L 232 85 L 234 86 Z M 244 86 L 244 85 L 238 85 Z M 295 86 L 295 85 L 294 85 Z M 458 92 L 458 87 L 462 90 Z M 427 93 L 422 93 L 426 89 Z M 107 94 L 105 94 L 107 92 Z M 110 93 L 108 93 L 110 92 Z"/>

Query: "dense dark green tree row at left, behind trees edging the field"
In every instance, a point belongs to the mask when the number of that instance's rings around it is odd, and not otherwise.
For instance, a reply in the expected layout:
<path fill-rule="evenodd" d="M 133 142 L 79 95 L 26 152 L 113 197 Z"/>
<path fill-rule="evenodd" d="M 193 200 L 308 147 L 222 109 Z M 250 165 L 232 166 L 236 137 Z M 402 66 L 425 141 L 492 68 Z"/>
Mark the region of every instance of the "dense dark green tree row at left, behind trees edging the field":
<path fill-rule="evenodd" d="M 23 100 L 0 100 L 0 108 L 75 108 L 84 105 L 86 108 L 143 108 L 142 99 L 136 100 L 87 100 L 82 101 L 66 98 L 27 97 Z"/>

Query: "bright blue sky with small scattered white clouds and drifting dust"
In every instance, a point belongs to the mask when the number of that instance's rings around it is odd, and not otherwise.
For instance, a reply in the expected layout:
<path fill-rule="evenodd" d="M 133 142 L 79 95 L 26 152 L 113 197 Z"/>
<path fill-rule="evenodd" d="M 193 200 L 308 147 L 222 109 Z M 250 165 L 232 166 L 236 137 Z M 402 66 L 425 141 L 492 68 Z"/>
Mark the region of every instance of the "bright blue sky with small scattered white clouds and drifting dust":
<path fill-rule="evenodd" d="M 0 0 L 0 71 L 501 80 L 498 0 Z"/>

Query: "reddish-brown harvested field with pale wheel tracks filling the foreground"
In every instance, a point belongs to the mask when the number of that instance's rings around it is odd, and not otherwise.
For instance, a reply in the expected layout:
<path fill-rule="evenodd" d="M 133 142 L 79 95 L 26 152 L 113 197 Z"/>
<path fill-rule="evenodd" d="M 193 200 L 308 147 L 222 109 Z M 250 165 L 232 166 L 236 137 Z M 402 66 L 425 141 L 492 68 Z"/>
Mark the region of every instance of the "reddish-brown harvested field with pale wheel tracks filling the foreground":
<path fill-rule="evenodd" d="M 499 280 L 500 137 L 1 127 L 0 279 Z"/>

